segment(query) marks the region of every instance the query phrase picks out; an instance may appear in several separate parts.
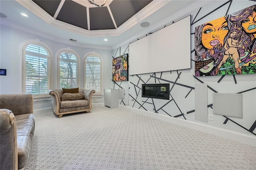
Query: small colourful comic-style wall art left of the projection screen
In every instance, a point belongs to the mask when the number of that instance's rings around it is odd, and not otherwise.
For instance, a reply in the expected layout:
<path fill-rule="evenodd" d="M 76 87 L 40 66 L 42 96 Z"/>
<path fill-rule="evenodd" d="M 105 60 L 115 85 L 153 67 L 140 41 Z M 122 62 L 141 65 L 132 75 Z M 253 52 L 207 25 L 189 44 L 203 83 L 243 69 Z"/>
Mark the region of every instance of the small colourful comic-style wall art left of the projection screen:
<path fill-rule="evenodd" d="M 112 81 L 128 81 L 128 54 L 112 59 Z"/>

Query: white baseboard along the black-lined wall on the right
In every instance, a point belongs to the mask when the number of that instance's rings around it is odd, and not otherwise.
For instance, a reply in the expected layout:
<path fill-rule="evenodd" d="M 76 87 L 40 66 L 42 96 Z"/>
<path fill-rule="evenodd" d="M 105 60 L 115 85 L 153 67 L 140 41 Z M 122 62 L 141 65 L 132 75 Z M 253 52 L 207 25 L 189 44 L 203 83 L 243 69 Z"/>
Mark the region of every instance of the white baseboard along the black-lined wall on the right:
<path fill-rule="evenodd" d="M 204 124 L 201 124 L 201 123 L 196 123 L 196 122 L 192 122 L 192 121 L 188 121 L 188 120 L 182 120 L 182 119 L 177 119 L 177 118 L 174 118 L 174 117 L 168 117 L 168 116 L 165 116 L 165 115 L 160 115 L 158 113 L 153 113 L 153 112 L 150 112 L 150 111 L 143 111 L 143 110 L 140 110 L 140 109 L 127 107 L 127 106 L 124 106 L 124 105 L 119 105 L 119 108 L 126 109 L 128 111 L 132 111 L 134 113 L 149 116 L 149 117 L 159 119 L 159 120 L 162 120 L 162 121 L 167 121 L 167 122 L 170 122 L 170 123 L 174 123 L 176 125 L 180 125 L 180 126 L 183 126 L 183 127 L 188 127 L 188 128 L 192 128 L 194 130 L 199 130 L 201 132 L 206 132 L 208 134 L 214 134 L 216 136 L 220 136 L 220 137 L 223 137 L 223 138 L 227 138 L 227 139 L 234 140 L 234 141 L 237 141 L 237 142 L 241 142 L 241 143 L 244 143 L 244 144 L 248 144 L 248 145 L 251 145 L 251 146 L 256 146 L 256 136 L 251 136 L 251 135 L 243 134 L 243 133 L 240 133 L 240 132 L 234 132 L 232 130 L 226 130 L 226 129 L 223 129 L 223 128 L 204 125 Z"/>

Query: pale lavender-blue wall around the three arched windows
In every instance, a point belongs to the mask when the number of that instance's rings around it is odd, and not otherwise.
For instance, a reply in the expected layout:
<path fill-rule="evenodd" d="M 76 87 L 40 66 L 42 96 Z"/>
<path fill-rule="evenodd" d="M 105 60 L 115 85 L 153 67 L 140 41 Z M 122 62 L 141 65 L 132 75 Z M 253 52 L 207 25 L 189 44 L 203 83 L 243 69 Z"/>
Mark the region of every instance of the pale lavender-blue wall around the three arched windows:
<path fill-rule="evenodd" d="M 26 41 L 31 39 L 39 39 L 42 43 L 46 44 L 52 54 L 52 66 L 53 66 L 53 83 L 52 89 L 57 88 L 57 58 L 56 53 L 59 49 L 70 47 L 70 49 L 76 51 L 79 55 L 79 87 L 83 88 L 83 74 L 82 74 L 82 59 L 86 53 L 91 51 L 95 51 L 102 58 L 102 89 L 106 88 L 111 79 L 111 69 L 107 69 L 108 65 L 112 62 L 109 61 L 109 57 L 111 57 L 110 50 L 103 49 L 90 49 L 77 47 L 74 45 L 68 45 L 65 43 L 54 42 L 52 40 L 36 36 L 34 34 L 30 34 L 28 32 L 24 32 L 18 30 L 16 28 L 12 28 L 9 26 L 1 25 L 0 27 L 0 36 L 1 36 L 1 45 L 0 45 L 0 68 L 7 69 L 7 75 L 0 76 L 0 94 L 14 94 L 14 93 L 22 93 L 22 55 L 20 49 L 20 45 Z M 102 93 L 104 93 L 102 91 Z M 92 99 L 93 103 L 104 103 L 103 98 Z M 37 109 L 42 107 L 46 107 L 42 101 L 40 104 L 36 106 Z M 42 103 L 42 105 L 41 105 Z M 46 102 L 49 103 L 49 102 Z"/>

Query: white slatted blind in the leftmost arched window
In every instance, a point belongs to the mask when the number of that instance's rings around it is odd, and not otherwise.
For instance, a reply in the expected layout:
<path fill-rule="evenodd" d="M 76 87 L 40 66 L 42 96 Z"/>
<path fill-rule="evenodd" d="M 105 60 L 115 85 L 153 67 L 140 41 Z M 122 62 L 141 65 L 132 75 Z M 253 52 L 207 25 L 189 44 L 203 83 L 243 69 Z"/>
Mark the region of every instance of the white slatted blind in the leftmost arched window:
<path fill-rule="evenodd" d="M 24 92 L 46 94 L 50 89 L 50 54 L 38 44 L 29 44 L 25 50 Z"/>

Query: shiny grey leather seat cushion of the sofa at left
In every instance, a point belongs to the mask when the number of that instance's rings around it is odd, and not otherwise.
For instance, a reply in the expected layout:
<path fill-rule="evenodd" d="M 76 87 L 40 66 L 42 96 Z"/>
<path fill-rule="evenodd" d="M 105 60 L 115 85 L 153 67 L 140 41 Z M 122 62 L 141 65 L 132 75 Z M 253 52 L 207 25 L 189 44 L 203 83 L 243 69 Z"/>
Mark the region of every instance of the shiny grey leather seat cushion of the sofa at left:
<path fill-rule="evenodd" d="M 34 136 L 35 117 L 32 113 L 16 115 L 18 169 L 25 166 Z"/>

